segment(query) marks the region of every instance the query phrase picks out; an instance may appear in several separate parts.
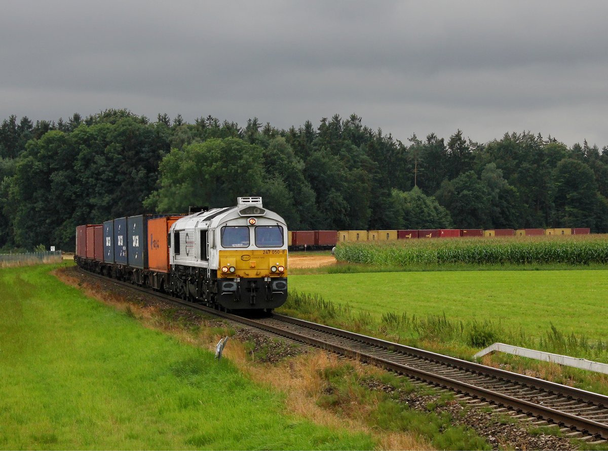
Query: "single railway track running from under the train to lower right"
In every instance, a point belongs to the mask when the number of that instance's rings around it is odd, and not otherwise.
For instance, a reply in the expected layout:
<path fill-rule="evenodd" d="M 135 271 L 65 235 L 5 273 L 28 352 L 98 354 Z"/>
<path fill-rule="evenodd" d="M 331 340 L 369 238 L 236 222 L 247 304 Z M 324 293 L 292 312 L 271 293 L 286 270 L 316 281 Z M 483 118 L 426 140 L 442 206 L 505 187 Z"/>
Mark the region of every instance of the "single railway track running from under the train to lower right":
<path fill-rule="evenodd" d="M 230 322 L 261 329 L 437 387 L 454 390 L 461 396 L 519 414 L 516 416 L 536 419 L 537 424 L 546 422 L 559 425 L 566 436 L 595 440 L 598 444 L 608 440 L 608 396 L 284 315 L 244 318 L 130 283 L 88 274 L 195 311 L 223 317 Z"/>

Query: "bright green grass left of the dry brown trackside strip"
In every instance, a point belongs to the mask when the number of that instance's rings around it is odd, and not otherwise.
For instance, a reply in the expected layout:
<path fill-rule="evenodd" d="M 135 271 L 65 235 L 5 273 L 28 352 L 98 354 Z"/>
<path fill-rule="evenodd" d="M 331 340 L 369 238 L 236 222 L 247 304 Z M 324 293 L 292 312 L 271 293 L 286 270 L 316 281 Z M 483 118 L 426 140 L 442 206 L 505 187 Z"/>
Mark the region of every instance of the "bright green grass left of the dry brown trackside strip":
<path fill-rule="evenodd" d="M 1 449 L 372 449 L 283 396 L 66 287 L 0 270 Z"/>

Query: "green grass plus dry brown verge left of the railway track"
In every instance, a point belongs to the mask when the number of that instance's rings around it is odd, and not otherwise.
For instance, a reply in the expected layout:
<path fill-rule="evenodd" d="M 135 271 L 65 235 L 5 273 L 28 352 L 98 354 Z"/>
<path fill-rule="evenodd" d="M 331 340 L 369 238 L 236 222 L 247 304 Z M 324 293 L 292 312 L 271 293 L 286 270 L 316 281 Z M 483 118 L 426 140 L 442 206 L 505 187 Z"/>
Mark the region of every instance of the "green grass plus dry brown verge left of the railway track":
<path fill-rule="evenodd" d="M 0 362 L 13 367 L 0 371 L 0 447 L 489 449 L 444 411 L 455 402 L 449 394 L 420 393 L 407 379 L 324 353 L 269 365 L 252 362 L 264 346 L 254 357 L 247 343 L 231 341 L 230 363 L 217 362 L 192 346 L 208 349 L 216 333 L 230 333 L 215 322 L 184 321 L 176 309 L 58 274 L 104 306 L 46 270 L 0 271 L 2 293 L 11 293 L 1 298 L 11 327 L 0 334 Z M 368 389 L 379 383 L 392 393 Z M 401 396 L 434 401 L 417 411 Z"/>

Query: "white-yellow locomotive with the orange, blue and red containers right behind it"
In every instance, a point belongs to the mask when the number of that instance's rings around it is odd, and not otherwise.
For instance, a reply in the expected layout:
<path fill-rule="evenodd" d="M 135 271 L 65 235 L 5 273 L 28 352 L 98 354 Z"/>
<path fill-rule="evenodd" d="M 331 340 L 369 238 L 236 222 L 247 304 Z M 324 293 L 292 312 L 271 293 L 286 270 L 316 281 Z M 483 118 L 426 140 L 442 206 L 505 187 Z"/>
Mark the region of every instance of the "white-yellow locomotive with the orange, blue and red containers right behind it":
<path fill-rule="evenodd" d="M 271 311 L 287 298 L 287 226 L 259 197 L 237 204 L 78 226 L 74 259 L 83 269 L 216 308 Z"/>

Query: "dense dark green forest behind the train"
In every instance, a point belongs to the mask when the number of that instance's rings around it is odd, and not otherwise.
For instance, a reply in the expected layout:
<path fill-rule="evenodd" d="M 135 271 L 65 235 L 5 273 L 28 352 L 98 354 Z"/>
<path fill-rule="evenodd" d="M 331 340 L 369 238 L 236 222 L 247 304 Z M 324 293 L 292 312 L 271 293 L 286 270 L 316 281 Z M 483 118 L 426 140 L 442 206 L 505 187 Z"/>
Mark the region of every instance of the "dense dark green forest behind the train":
<path fill-rule="evenodd" d="M 0 248 L 74 249 L 75 226 L 263 196 L 291 230 L 608 231 L 608 148 L 540 134 L 403 143 L 351 115 L 288 130 L 126 110 L 0 126 Z"/>

